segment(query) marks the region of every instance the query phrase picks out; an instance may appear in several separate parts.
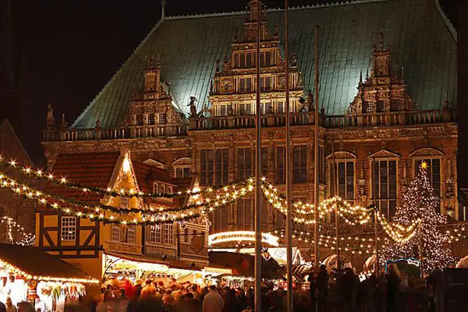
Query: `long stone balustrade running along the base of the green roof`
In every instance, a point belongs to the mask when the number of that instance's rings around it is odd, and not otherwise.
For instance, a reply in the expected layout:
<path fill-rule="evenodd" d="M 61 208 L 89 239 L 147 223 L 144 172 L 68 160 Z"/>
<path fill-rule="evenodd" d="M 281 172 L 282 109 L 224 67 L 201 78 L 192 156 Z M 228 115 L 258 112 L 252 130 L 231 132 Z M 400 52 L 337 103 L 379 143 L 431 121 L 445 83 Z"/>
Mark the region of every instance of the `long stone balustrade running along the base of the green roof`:
<path fill-rule="evenodd" d="M 410 112 L 385 112 L 361 115 L 324 116 L 320 114 L 319 125 L 329 129 L 345 127 L 378 127 L 427 125 L 451 123 L 456 114 L 451 110 L 422 110 Z M 254 128 L 255 115 L 214 116 L 189 118 L 189 124 L 182 125 L 138 125 L 105 129 L 52 129 L 43 132 L 45 141 L 89 141 L 114 140 L 122 138 L 155 138 L 187 135 L 187 131 L 216 129 Z M 284 127 L 285 114 L 266 114 L 262 116 L 262 127 Z M 315 125 L 314 112 L 291 113 L 291 126 Z"/>

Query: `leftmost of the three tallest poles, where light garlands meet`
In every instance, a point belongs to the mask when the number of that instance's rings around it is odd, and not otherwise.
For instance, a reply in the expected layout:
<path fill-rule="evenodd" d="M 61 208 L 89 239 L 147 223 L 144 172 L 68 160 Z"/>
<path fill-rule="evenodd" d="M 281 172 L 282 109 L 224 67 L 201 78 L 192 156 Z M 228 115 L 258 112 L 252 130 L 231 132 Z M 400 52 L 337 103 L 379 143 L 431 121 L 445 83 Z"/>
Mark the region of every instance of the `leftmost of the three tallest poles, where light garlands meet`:
<path fill-rule="evenodd" d="M 262 28 L 260 1 L 257 1 L 257 154 L 255 165 L 255 311 L 262 311 L 262 189 L 260 174 L 262 172 L 262 114 L 260 107 L 260 28 Z"/>

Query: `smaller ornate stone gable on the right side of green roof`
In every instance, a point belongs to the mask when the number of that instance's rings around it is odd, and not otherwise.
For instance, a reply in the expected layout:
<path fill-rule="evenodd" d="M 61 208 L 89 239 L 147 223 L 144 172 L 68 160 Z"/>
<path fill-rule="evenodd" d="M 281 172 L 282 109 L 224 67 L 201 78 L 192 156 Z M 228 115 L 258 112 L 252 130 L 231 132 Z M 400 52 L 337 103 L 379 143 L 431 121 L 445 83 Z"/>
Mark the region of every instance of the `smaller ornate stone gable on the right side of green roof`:
<path fill-rule="evenodd" d="M 392 72 L 390 45 L 385 48 L 383 34 L 379 45 L 372 48 L 372 71 L 363 81 L 359 77 L 357 95 L 348 107 L 348 114 L 374 114 L 414 110 L 416 103 L 406 90 L 404 68 L 400 75 Z"/>

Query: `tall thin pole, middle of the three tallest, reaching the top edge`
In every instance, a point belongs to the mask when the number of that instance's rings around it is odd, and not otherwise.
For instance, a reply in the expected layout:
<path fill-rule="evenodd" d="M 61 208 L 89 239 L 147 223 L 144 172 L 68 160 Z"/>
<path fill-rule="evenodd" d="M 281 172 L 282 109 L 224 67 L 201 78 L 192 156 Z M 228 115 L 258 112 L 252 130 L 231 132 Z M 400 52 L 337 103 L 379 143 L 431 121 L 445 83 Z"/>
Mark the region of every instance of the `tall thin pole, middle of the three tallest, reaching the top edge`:
<path fill-rule="evenodd" d="M 284 57 L 286 59 L 286 262 L 288 278 L 288 307 L 292 312 L 292 207 L 291 207 L 291 132 L 289 106 L 289 47 L 288 0 L 284 0 Z"/>

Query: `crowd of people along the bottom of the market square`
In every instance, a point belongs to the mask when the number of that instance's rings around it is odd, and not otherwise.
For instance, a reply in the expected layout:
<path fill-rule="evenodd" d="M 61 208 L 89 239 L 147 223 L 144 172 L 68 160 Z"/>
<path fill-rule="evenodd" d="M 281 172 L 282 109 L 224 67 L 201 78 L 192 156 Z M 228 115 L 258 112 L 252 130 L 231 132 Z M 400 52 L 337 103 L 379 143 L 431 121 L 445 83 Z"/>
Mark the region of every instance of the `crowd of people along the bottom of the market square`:
<path fill-rule="evenodd" d="M 370 274 L 360 279 L 351 268 L 330 271 L 322 265 L 310 272 L 307 283 L 294 284 L 294 311 L 443 311 L 435 300 L 437 275 L 426 280 L 409 277 L 390 264 L 379 277 Z M 262 286 L 262 312 L 286 311 L 286 291 L 273 282 Z M 108 282 L 100 293 L 97 300 L 83 298 L 79 305 L 65 306 L 65 312 L 248 312 L 255 305 L 253 288 L 240 285 L 200 287 L 175 280 L 131 282 L 123 278 Z M 0 304 L 0 312 L 23 311 L 31 310 L 16 309 L 11 300 Z"/>

